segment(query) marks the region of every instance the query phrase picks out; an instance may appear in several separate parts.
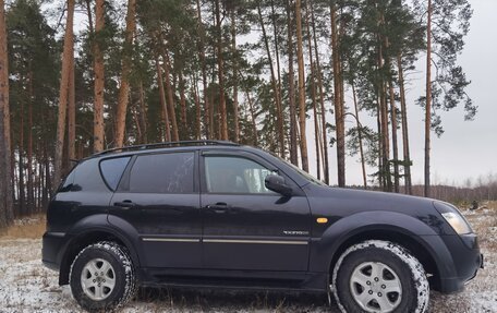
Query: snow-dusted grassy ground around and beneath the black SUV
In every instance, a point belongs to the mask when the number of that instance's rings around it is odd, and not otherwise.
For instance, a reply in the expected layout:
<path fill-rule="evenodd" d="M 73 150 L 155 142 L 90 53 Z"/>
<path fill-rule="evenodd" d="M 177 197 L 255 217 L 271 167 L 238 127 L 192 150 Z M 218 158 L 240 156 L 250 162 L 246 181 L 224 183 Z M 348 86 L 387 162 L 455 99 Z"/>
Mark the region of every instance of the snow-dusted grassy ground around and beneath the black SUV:
<path fill-rule="evenodd" d="M 463 292 L 431 294 L 431 312 L 497 312 L 497 209 L 464 212 L 485 255 Z M 29 227 L 36 220 L 17 221 Z M 0 238 L 0 312 L 82 312 L 57 273 L 40 262 L 39 239 Z M 338 312 L 323 294 L 142 289 L 122 312 Z"/>

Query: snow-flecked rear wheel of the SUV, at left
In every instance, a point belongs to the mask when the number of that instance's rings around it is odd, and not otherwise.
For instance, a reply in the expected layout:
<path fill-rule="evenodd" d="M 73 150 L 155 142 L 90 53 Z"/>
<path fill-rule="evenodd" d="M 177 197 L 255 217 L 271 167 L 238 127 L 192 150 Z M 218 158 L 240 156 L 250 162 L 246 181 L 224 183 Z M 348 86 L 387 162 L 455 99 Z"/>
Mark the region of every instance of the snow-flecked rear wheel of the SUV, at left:
<path fill-rule="evenodd" d="M 83 249 L 71 265 L 71 292 L 89 312 L 113 311 L 136 292 L 136 276 L 128 251 L 101 241 Z"/>

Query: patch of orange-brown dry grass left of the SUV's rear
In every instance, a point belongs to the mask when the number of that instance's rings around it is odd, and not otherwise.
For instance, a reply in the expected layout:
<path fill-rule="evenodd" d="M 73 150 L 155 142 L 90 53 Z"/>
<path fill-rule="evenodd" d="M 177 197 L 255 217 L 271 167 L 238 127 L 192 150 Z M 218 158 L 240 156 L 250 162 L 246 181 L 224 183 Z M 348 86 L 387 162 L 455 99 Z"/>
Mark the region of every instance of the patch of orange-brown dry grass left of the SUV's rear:
<path fill-rule="evenodd" d="M 14 224 L 1 233 L 0 239 L 39 239 L 44 236 L 45 229 L 45 214 L 37 214 L 14 220 Z"/>

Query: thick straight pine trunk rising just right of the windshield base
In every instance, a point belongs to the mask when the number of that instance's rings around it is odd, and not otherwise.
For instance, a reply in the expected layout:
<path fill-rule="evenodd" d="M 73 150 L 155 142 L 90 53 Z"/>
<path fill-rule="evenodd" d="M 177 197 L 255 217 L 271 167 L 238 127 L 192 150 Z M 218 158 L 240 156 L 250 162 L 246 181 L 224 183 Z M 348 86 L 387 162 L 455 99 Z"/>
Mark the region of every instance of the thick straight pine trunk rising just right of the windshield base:
<path fill-rule="evenodd" d="M 338 50 L 338 28 L 337 28 L 337 7 L 331 4 L 331 58 L 334 64 L 334 87 L 335 87 L 335 123 L 337 133 L 337 168 L 338 168 L 338 185 L 346 186 L 346 124 L 343 98 L 341 94 L 341 69 Z"/>

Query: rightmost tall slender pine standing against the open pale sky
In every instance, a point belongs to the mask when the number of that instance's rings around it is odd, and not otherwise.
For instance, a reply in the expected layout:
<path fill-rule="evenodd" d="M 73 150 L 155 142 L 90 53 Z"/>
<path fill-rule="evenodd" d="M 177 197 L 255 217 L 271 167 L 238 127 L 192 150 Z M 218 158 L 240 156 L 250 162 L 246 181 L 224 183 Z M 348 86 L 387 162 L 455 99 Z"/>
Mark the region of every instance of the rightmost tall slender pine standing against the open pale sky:
<path fill-rule="evenodd" d="M 457 1 L 414 1 L 420 15 L 426 15 L 426 96 L 419 99 L 425 109 L 425 164 L 424 195 L 431 191 L 431 132 L 444 133 L 441 118 L 437 110 L 450 110 L 464 105 L 464 120 L 472 120 L 477 107 L 473 105 L 465 87 L 470 84 L 457 56 L 464 47 L 463 37 L 468 34 L 473 14 L 468 0 Z M 426 13 L 426 14 L 425 14 Z M 432 73 L 435 64 L 435 73 Z"/>

